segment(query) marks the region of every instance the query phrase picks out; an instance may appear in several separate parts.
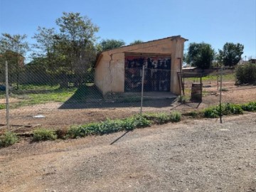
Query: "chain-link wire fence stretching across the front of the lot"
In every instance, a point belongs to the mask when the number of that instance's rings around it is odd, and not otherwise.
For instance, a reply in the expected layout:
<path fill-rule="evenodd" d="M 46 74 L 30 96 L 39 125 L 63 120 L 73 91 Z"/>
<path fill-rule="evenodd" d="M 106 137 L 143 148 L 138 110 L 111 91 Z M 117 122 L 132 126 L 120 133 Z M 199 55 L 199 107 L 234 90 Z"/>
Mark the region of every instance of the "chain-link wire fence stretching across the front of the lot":
<path fill-rule="evenodd" d="M 255 86 L 235 85 L 235 70 L 230 68 L 224 68 L 223 75 L 220 68 L 177 73 L 181 97 L 171 94 L 170 68 L 104 68 L 102 72 L 110 76 L 95 77 L 95 70 L 70 73 L 25 66 L 18 73 L 9 73 L 7 98 L 6 72 L 1 71 L 0 132 L 8 124 L 10 129 L 26 131 L 37 126 L 61 128 L 124 118 L 139 112 L 201 110 L 218 105 L 220 80 L 223 102 L 256 100 Z M 193 95 L 199 95 L 199 100 L 193 100 Z"/>

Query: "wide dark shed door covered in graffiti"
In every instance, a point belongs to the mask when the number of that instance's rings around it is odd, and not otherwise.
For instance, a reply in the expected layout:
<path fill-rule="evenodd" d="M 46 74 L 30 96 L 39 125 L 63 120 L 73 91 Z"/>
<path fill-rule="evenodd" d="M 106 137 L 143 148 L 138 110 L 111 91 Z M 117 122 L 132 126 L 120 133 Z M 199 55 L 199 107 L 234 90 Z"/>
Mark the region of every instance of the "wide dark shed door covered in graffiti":
<path fill-rule="evenodd" d="M 142 66 L 145 65 L 144 91 L 170 91 L 171 57 L 125 56 L 125 91 L 141 91 Z"/>

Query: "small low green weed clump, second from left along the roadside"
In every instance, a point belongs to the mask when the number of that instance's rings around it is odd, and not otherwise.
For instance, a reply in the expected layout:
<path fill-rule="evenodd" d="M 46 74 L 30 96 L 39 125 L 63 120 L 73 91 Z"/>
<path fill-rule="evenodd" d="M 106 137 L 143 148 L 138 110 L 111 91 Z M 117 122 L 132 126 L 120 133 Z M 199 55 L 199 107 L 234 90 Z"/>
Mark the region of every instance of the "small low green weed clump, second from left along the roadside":
<path fill-rule="evenodd" d="M 57 139 L 57 134 L 52 129 L 36 129 L 33 131 L 33 141 L 47 141 L 47 140 L 55 140 Z"/>

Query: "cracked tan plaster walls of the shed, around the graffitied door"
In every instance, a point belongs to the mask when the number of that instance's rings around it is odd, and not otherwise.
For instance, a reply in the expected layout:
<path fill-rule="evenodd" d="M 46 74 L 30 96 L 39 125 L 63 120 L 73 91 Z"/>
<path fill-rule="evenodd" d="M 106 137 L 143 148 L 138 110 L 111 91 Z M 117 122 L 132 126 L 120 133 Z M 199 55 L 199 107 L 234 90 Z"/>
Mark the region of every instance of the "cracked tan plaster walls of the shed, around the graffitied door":
<path fill-rule="evenodd" d="M 177 71 L 181 71 L 184 38 L 164 38 L 158 41 L 116 48 L 102 52 L 96 65 L 95 84 L 103 94 L 124 92 L 124 53 L 171 55 L 171 92 L 179 94 Z M 180 59 L 181 58 L 181 61 Z"/>

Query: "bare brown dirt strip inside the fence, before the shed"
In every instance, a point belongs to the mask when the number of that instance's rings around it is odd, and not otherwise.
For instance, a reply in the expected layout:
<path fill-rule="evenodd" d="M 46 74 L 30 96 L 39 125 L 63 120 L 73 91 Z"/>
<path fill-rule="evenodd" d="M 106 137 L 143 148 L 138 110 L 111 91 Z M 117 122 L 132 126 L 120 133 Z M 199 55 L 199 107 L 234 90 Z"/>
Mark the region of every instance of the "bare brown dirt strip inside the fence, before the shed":
<path fill-rule="evenodd" d="M 223 102 L 245 103 L 256 101 L 256 86 L 235 86 L 234 82 L 223 82 L 223 87 L 228 90 L 223 92 Z M 210 84 L 210 87 L 203 87 L 203 101 L 200 103 L 188 101 L 185 104 L 181 104 L 177 100 L 146 100 L 144 102 L 143 112 L 186 112 L 201 110 L 211 105 L 218 105 L 220 97 L 217 90 L 217 85 L 213 85 L 213 83 Z M 16 102 L 16 100 L 11 100 L 11 102 Z M 19 129 L 19 132 L 27 132 L 37 126 L 57 129 L 88 122 L 100 122 L 107 118 L 128 117 L 132 114 L 139 113 L 139 106 L 140 102 L 99 102 L 71 105 L 51 102 L 43 105 L 11 109 L 10 124 L 17 125 L 14 126 L 14 129 L 16 127 L 26 126 Z M 43 115 L 43 118 L 35 118 L 36 115 Z M 6 124 L 5 110 L 1 110 L 0 124 Z"/>

